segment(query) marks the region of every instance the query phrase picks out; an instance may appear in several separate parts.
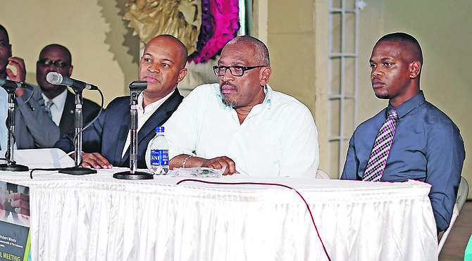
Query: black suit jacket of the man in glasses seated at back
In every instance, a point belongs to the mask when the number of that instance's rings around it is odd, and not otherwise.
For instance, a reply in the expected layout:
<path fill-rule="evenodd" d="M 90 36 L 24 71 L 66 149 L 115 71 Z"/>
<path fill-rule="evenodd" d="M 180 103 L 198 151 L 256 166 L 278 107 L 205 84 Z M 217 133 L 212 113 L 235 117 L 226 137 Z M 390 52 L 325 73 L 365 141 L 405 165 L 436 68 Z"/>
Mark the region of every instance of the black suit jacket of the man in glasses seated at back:
<path fill-rule="evenodd" d="M 87 123 L 94 120 L 99 114 L 100 106 L 87 98 L 82 99 L 82 116 L 84 127 Z M 61 136 L 75 132 L 75 94 L 67 91 L 66 103 L 62 110 L 61 122 L 59 122 L 59 129 Z"/>

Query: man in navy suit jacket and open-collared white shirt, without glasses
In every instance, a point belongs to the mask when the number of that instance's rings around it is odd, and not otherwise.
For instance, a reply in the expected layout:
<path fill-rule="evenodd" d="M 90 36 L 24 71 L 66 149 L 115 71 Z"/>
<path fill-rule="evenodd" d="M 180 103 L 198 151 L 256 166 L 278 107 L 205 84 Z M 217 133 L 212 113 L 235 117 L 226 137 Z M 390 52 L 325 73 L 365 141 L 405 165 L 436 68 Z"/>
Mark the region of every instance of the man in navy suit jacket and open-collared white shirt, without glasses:
<path fill-rule="evenodd" d="M 182 102 L 177 85 L 187 75 L 186 63 L 185 45 L 171 35 L 154 37 L 144 49 L 138 79 L 147 81 L 147 89 L 138 96 L 138 168 L 146 168 L 144 155 L 155 127 L 163 125 Z M 82 166 L 129 167 L 129 133 L 130 96 L 115 98 L 82 133 Z M 73 134 L 59 139 L 54 146 L 66 153 L 74 151 Z"/>

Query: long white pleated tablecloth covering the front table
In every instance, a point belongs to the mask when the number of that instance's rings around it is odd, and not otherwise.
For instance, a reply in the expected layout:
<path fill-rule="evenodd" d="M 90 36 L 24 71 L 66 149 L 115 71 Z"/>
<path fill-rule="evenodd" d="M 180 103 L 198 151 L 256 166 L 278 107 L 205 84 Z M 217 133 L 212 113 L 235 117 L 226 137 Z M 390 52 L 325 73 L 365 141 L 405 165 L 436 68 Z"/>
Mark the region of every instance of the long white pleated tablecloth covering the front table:
<path fill-rule="evenodd" d="M 123 170 L 123 169 L 121 169 Z M 328 260 L 293 190 L 214 185 L 156 176 L 113 179 L 120 169 L 71 176 L 0 172 L 30 186 L 32 260 Z M 421 182 L 221 177 L 296 188 L 309 203 L 331 260 L 437 260 Z"/>

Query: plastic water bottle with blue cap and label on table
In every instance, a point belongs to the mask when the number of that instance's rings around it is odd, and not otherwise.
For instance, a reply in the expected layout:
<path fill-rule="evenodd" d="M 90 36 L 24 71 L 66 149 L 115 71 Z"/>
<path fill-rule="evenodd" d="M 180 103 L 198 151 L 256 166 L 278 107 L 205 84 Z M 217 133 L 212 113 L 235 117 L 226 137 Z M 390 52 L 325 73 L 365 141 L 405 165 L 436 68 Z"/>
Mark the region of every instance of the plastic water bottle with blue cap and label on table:
<path fill-rule="evenodd" d="M 156 136 L 151 139 L 149 151 L 149 171 L 154 175 L 166 175 L 169 171 L 169 145 L 164 136 L 164 127 L 156 127 Z"/>

